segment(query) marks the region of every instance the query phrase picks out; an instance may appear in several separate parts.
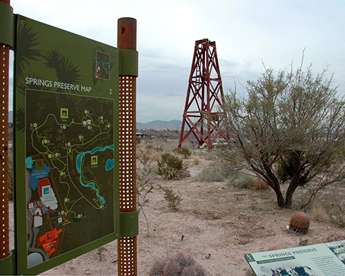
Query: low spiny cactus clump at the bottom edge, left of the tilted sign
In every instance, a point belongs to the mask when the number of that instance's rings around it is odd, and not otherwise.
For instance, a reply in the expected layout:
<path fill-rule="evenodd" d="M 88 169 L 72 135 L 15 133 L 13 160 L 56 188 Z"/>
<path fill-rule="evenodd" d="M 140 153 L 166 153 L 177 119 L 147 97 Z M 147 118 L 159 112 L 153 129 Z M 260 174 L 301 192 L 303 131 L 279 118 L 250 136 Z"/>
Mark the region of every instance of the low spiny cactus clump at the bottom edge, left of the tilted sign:
<path fill-rule="evenodd" d="M 189 255 L 179 253 L 156 261 L 151 269 L 151 276 L 205 276 L 206 270 Z"/>

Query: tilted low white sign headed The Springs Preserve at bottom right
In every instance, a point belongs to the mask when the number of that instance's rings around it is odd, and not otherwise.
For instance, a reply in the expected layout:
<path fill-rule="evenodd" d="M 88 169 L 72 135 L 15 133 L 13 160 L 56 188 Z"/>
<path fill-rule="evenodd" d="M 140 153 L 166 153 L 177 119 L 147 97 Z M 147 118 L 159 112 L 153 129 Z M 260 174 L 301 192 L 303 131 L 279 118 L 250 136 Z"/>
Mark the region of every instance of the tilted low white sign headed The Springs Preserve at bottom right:
<path fill-rule="evenodd" d="M 345 276 L 345 240 L 245 257 L 257 276 Z"/>

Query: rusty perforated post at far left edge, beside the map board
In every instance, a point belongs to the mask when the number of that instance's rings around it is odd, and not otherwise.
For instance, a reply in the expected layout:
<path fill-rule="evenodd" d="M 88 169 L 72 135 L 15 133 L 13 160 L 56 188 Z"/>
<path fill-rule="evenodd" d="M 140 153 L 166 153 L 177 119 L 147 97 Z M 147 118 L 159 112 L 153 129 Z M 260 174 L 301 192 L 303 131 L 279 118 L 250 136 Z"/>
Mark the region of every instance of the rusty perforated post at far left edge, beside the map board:
<path fill-rule="evenodd" d="M 9 0 L 1 0 L 1 2 L 10 5 Z M 10 46 L 2 42 L 0 41 L 0 259 L 10 255 L 8 226 L 8 74 Z"/>

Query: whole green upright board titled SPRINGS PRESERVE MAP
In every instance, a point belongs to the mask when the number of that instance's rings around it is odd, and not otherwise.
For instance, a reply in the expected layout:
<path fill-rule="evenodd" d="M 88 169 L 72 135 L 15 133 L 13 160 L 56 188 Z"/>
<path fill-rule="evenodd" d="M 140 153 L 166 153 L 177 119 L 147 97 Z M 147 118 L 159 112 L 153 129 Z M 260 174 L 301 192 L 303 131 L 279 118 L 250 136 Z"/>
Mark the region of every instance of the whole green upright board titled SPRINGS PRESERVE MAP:
<path fill-rule="evenodd" d="M 17 274 L 119 237 L 119 50 L 17 15 Z"/>

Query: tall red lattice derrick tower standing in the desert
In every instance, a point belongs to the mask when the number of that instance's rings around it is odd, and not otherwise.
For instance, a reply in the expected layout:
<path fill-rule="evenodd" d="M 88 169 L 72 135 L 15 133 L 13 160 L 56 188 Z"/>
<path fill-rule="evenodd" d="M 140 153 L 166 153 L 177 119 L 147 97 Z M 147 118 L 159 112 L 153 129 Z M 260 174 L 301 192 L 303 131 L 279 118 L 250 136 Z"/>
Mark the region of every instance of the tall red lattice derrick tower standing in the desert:
<path fill-rule="evenodd" d="M 195 41 L 179 148 L 191 134 L 199 146 L 205 144 L 211 148 L 217 136 L 221 135 L 217 130 L 219 116 L 215 109 L 221 106 L 223 96 L 215 41 Z M 185 128 L 189 128 L 186 133 Z"/>

